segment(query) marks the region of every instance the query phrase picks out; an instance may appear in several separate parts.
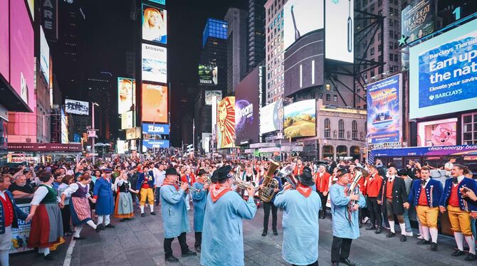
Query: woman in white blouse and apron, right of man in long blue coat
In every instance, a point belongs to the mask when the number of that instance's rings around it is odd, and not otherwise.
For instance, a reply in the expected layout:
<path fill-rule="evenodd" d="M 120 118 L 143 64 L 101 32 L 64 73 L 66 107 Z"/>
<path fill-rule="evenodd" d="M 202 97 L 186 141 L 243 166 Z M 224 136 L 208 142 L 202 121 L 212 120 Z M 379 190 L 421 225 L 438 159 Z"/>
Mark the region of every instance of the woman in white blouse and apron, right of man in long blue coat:
<path fill-rule="evenodd" d="M 115 218 L 121 218 L 121 222 L 130 220 L 134 217 L 131 192 L 137 194 L 139 191 L 131 188 L 131 183 L 127 180 L 125 171 L 122 171 L 120 176 L 117 177 L 115 190 L 117 191 Z"/>

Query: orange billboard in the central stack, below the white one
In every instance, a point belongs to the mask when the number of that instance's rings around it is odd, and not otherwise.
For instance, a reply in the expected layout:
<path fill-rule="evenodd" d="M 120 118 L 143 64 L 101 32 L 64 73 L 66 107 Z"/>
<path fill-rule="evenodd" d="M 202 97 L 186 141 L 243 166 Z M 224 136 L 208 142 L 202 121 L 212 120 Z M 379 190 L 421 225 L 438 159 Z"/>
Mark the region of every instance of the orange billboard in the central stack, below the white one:
<path fill-rule="evenodd" d="M 167 123 L 167 86 L 142 83 L 142 121 Z"/>

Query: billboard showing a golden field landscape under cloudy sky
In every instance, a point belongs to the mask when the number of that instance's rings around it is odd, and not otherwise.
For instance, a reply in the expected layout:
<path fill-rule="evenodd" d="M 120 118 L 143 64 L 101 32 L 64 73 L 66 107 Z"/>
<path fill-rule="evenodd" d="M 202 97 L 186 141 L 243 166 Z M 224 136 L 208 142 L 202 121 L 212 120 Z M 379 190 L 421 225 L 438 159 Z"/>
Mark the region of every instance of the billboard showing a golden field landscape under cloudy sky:
<path fill-rule="evenodd" d="M 285 137 L 316 136 L 316 101 L 293 102 L 283 108 L 283 132 Z"/>

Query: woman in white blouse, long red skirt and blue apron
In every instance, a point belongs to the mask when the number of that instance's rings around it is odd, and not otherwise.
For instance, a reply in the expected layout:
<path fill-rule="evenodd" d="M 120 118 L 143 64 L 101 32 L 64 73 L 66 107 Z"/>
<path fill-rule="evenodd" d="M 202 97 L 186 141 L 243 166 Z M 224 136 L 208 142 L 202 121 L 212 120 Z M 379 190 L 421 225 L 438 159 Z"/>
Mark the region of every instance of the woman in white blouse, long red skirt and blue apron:
<path fill-rule="evenodd" d="M 54 260 L 50 250 L 56 250 L 63 239 L 63 220 L 58 206 L 58 193 L 53 188 L 53 175 L 43 172 L 39 177 L 41 184 L 36 189 L 31 200 L 30 214 L 26 220 L 31 220 L 28 248 L 38 248 L 45 260 Z"/>

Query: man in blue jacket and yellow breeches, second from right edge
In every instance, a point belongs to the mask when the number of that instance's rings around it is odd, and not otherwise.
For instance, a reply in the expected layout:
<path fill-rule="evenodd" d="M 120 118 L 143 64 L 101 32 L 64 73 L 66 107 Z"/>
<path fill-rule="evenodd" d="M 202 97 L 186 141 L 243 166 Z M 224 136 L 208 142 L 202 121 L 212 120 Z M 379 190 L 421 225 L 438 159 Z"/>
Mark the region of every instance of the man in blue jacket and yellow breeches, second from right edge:
<path fill-rule="evenodd" d="M 431 169 L 422 167 L 421 179 L 412 181 L 408 202 L 416 207 L 417 218 L 421 221 L 423 239 L 417 241 L 418 245 L 431 244 L 431 250 L 437 250 L 437 218 L 439 217 L 439 201 L 442 197 L 441 181 L 431 179 Z M 404 208 L 409 208 L 409 203 L 404 203 Z M 429 242 L 429 235 L 432 243 Z"/>

